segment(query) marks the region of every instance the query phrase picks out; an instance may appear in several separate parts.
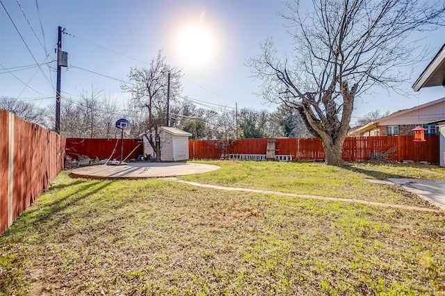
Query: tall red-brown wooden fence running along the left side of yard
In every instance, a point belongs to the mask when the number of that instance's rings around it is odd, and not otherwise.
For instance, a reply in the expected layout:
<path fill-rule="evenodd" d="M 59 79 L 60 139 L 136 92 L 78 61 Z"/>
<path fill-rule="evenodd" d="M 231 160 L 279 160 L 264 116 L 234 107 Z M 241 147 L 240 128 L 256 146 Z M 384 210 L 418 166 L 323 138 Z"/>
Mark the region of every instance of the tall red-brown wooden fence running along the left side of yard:
<path fill-rule="evenodd" d="M 65 138 L 0 109 L 0 234 L 63 170 Z"/>

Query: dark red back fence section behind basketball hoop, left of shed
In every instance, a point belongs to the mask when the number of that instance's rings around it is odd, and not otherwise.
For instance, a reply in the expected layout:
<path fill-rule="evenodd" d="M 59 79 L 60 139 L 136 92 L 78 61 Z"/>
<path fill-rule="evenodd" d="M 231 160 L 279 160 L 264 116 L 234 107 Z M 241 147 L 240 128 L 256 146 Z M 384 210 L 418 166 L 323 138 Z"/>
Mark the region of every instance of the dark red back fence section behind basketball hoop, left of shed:
<path fill-rule="evenodd" d="M 140 143 L 141 140 L 124 139 L 124 153 L 122 158 L 126 158 Z M 66 154 L 73 159 L 77 159 L 81 155 L 86 155 L 91 159 L 98 157 L 99 159 L 111 158 L 119 160 L 120 146 L 120 139 L 67 138 Z M 144 154 L 142 144 L 131 152 L 129 159 L 137 158 L 139 154 Z"/>

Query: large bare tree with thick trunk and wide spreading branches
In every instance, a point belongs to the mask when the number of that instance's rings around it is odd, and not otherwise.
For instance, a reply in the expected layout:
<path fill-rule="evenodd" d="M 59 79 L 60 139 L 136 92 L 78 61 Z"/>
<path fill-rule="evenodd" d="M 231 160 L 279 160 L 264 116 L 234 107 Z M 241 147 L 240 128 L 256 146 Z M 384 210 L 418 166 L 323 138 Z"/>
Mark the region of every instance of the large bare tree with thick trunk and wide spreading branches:
<path fill-rule="evenodd" d="M 327 165 L 343 165 L 343 142 L 350 129 L 354 100 L 377 86 L 396 88 L 403 65 L 412 65 L 414 31 L 444 24 L 445 3 L 416 0 L 313 0 L 300 15 L 298 1 L 279 13 L 295 47 L 277 57 L 272 38 L 262 54 L 247 62 L 261 79 L 267 101 L 296 108 L 307 129 L 323 142 Z"/>

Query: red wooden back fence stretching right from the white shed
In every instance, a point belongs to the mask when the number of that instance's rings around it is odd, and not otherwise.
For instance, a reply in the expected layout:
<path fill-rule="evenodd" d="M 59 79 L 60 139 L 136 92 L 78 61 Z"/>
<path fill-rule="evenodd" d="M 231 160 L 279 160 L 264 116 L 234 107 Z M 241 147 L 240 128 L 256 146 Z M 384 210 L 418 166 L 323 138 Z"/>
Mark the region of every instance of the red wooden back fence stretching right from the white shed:
<path fill-rule="evenodd" d="M 343 160 L 439 163 L 439 136 L 426 135 L 425 139 L 413 142 L 413 135 L 349 137 L 343 143 Z M 325 160 L 321 140 L 316 138 L 190 140 L 188 153 L 191 159 Z"/>

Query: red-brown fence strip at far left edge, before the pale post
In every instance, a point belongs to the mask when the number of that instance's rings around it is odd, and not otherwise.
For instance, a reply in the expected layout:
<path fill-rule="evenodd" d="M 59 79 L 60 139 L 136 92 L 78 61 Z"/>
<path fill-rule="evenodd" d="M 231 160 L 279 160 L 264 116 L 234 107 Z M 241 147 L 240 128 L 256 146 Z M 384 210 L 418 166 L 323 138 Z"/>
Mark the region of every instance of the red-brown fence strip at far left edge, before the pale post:
<path fill-rule="evenodd" d="M 8 228 L 9 113 L 0 109 L 0 233 Z"/>

